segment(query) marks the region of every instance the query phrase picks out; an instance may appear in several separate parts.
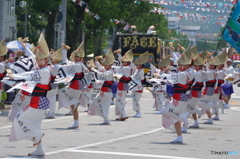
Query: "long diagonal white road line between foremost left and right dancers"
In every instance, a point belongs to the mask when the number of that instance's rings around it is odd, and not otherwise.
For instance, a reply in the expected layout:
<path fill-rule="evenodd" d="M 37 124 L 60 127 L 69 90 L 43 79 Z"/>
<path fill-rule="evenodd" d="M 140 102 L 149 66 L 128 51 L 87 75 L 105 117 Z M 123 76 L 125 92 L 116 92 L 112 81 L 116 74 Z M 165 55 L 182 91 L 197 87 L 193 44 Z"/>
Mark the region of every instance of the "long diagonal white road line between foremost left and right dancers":
<path fill-rule="evenodd" d="M 105 141 L 92 143 L 92 144 L 88 144 L 88 145 L 76 146 L 76 147 L 73 147 L 73 148 L 62 149 L 62 150 L 53 151 L 53 152 L 47 152 L 46 155 L 53 155 L 53 154 L 57 154 L 57 153 L 61 153 L 61 152 L 69 151 L 69 150 L 76 150 L 76 149 L 82 149 L 82 148 L 87 148 L 87 147 L 92 147 L 92 146 L 98 146 L 98 145 L 102 145 L 102 144 L 109 144 L 109 143 L 113 143 L 113 142 L 117 142 L 117 141 L 127 140 L 127 139 L 130 139 L 130 138 L 140 137 L 140 136 L 143 136 L 143 135 L 149 135 L 149 134 L 152 134 L 152 133 L 164 130 L 164 129 L 165 129 L 164 127 L 161 127 L 161 128 L 157 128 L 157 129 L 147 131 L 147 132 L 134 134 L 134 135 L 129 135 L 129 136 L 124 136 L 124 137 L 120 137 L 120 138 L 105 140 Z"/>

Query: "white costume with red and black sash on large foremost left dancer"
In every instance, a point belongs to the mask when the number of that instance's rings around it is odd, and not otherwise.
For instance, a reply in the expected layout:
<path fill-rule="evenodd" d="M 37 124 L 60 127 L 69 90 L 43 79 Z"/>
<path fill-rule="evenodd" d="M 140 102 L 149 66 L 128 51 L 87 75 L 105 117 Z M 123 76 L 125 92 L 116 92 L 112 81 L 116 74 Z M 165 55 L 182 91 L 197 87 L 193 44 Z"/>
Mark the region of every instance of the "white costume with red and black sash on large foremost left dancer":
<path fill-rule="evenodd" d="M 23 110 L 21 110 L 13 121 L 11 135 L 9 141 L 31 140 L 35 137 L 41 139 L 44 133 L 41 130 L 41 123 L 44 117 L 45 110 L 49 108 L 49 101 L 46 97 L 47 91 L 50 90 L 50 68 L 44 67 L 40 70 L 14 74 L 14 80 L 25 79 L 22 89 L 27 91 L 29 88 L 28 81 L 34 81 L 35 86 L 31 94 L 30 103 Z"/>

